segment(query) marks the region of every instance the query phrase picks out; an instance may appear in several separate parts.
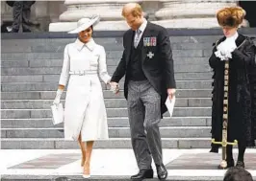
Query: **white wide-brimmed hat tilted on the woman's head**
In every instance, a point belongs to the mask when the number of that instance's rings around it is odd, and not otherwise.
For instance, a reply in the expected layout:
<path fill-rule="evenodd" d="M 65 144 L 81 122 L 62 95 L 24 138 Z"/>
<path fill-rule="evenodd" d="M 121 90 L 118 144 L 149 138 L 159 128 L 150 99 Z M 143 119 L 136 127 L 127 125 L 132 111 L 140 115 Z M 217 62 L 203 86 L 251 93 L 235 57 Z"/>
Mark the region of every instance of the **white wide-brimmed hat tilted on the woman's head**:
<path fill-rule="evenodd" d="M 69 31 L 68 34 L 78 34 L 84 30 L 87 30 L 88 28 L 90 28 L 91 25 L 96 25 L 99 22 L 99 19 L 99 15 L 93 15 L 90 18 L 83 17 L 78 20 L 77 28 Z"/>

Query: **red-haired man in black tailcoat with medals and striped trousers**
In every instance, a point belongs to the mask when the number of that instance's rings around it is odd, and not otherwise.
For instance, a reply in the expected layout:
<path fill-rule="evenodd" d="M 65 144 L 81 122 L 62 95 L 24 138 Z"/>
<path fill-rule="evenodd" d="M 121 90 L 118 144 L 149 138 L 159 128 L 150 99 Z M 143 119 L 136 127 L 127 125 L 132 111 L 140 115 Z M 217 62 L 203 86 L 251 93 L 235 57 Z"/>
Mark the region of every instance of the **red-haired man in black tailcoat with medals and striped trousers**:
<path fill-rule="evenodd" d="M 117 86 L 125 75 L 132 146 L 140 169 L 131 179 L 153 178 L 153 157 L 158 177 L 165 180 L 158 124 L 166 112 L 166 98 L 172 99 L 176 87 L 169 37 L 165 28 L 143 18 L 139 4 L 125 5 L 122 15 L 131 29 L 123 35 L 124 51 L 111 85 Z"/>

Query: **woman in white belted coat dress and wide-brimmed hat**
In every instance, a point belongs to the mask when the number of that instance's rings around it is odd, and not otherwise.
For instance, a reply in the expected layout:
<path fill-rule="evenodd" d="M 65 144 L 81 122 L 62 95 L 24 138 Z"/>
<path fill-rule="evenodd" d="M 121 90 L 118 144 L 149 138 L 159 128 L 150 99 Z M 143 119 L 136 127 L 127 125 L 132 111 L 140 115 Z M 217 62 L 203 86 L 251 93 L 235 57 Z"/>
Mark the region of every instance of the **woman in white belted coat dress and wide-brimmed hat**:
<path fill-rule="evenodd" d="M 64 104 L 64 139 L 78 141 L 82 150 L 83 176 L 90 177 L 90 155 L 95 140 L 109 138 L 102 87 L 111 77 L 107 72 L 104 47 L 91 37 L 99 17 L 82 18 L 69 34 L 78 34 L 64 48 L 64 64 L 54 104 L 60 103 L 68 81 Z"/>

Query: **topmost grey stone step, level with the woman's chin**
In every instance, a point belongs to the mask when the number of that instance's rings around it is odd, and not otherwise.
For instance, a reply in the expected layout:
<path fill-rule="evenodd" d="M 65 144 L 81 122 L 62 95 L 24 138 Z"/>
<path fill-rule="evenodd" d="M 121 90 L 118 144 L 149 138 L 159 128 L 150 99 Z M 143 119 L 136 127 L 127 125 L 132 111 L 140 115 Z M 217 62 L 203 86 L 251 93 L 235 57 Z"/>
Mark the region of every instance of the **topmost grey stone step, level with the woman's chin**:
<path fill-rule="evenodd" d="M 242 34 L 246 34 L 248 36 L 255 36 L 255 29 L 243 29 Z M 205 43 L 205 42 L 216 42 L 216 40 L 220 37 L 222 37 L 221 32 L 218 32 L 218 34 L 215 32 L 213 34 L 212 30 L 209 30 L 210 32 L 207 32 L 207 30 L 188 30 L 190 31 L 194 31 L 194 33 L 192 34 L 187 34 L 185 32 L 183 32 L 184 30 L 174 30 L 174 32 L 172 32 L 173 30 L 169 30 L 170 33 L 170 42 L 171 43 Z M 176 31 L 178 31 L 179 33 L 181 32 L 181 34 L 177 33 Z M 201 32 L 202 31 L 202 32 Z M 214 30 L 215 31 L 215 30 Z M 100 34 L 100 35 L 99 35 Z M 117 32 L 117 34 L 115 34 L 115 32 L 111 35 L 109 35 L 108 33 L 106 34 L 105 32 L 95 32 L 95 35 L 93 37 L 93 39 L 96 41 L 96 43 L 98 44 L 119 44 L 122 46 L 122 34 L 123 32 Z M 46 33 L 46 34 L 22 34 L 23 37 L 20 37 L 20 34 L 16 34 L 18 37 L 15 37 L 15 34 L 12 34 L 12 37 L 8 37 L 11 36 L 11 34 L 4 34 L 4 38 L 2 38 L 3 43 L 5 43 L 6 46 L 16 46 L 16 48 L 19 48 L 19 45 L 26 45 L 26 44 L 30 44 L 30 45 L 38 45 L 38 44 L 42 44 L 42 45 L 51 45 L 51 44 L 67 44 L 70 42 L 74 42 L 76 37 L 71 36 L 70 34 L 52 34 L 52 33 Z M 26 36 L 28 35 L 28 36 Z M 68 35 L 68 37 L 67 37 Z M 55 37 L 53 37 L 55 36 Z M 17 41 L 20 44 L 16 44 Z"/>

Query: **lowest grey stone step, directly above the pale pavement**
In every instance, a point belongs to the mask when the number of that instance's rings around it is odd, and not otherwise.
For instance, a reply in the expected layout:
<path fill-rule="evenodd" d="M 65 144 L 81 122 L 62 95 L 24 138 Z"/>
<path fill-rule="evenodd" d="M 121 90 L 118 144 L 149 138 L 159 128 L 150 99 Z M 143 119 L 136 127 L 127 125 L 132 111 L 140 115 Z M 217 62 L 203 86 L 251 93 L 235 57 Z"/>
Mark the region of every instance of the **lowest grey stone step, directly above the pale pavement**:
<path fill-rule="evenodd" d="M 110 138 L 96 141 L 94 148 L 132 148 L 130 138 Z M 163 138 L 163 148 L 210 148 L 211 138 Z M 2 149 L 78 149 L 75 141 L 63 138 L 2 138 Z"/>

